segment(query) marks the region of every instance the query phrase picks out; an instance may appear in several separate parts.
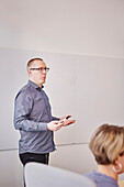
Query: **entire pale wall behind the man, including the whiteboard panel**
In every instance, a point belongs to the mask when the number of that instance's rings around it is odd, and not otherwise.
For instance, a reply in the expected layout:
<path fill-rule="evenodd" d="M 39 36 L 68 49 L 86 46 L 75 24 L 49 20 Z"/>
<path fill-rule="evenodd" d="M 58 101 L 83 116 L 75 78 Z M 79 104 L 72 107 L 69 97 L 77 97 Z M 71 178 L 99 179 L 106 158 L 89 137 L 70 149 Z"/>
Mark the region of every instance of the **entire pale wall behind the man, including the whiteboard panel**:
<path fill-rule="evenodd" d="M 22 186 L 13 98 L 26 82 L 27 59 L 37 55 L 52 70 L 45 89 L 53 113 L 71 113 L 77 120 L 76 125 L 56 132 L 58 146 L 50 165 L 90 172 L 95 167 L 87 144 L 91 133 L 102 122 L 124 121 L 124 1 L 0 2 L 0 186 Z"/>

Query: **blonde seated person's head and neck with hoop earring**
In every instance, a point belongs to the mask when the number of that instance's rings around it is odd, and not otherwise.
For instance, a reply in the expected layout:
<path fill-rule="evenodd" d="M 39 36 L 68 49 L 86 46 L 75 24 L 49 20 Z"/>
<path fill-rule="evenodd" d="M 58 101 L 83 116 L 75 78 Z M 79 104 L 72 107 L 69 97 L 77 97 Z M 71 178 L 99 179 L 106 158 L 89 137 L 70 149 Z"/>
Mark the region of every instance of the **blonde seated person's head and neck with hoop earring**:
<path fill-rule="evenodd" d="M 119 174 L 124 173 L 124 127 L 99 127 L 90 140 L 89 147 L 98 163 L 97 173 L 103 174 L 103 178 L 110 177 L 117 182 Z"/>

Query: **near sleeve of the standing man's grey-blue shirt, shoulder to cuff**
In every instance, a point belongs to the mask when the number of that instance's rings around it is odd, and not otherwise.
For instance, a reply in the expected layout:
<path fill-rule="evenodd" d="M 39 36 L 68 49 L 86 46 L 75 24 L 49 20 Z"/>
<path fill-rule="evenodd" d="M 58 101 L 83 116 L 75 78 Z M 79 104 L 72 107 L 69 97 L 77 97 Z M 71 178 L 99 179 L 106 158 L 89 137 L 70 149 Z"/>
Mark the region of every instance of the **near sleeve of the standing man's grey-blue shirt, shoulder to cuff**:
<path fill-rule="evenodd" d="M 33 108 L 33 98 L 27 92 L 20 92 L 14 101 L 14 128 L 23 131 L 47 131 L 47 123 L 29 119 Z"/>

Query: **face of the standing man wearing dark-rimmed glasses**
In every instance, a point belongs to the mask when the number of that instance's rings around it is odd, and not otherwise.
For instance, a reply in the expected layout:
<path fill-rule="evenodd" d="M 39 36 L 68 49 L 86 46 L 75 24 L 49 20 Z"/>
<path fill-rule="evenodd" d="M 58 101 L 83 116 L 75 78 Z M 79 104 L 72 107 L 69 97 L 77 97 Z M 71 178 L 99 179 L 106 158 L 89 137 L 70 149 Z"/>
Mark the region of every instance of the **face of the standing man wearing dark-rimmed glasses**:
<path fill-rule="evenodd" d="M 35 69 L 35 68 L 46 68 L 46 65 L 43 61 L 34 61 L 29 69 L 30 79 L 42 87 L 46 81 L 46 70 Z"/>

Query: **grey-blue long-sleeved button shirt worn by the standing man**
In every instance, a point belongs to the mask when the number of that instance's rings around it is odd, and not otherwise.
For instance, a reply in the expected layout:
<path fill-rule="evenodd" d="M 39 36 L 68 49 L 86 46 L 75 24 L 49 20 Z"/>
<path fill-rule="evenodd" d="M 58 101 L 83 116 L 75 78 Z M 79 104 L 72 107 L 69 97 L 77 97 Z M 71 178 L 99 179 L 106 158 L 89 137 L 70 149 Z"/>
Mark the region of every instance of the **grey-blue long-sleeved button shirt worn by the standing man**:
<path fill-rule="evenodd" d="M 54 133 L 47 123 L 59 120 L 52 116 L 47 95 L 29 80 L 14 100 L 14 128 L 20 130 L 19 153 L 49 153 L 55 151 Z"/>

